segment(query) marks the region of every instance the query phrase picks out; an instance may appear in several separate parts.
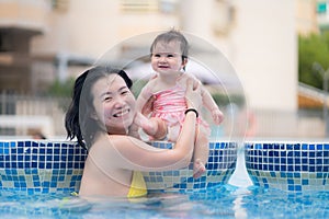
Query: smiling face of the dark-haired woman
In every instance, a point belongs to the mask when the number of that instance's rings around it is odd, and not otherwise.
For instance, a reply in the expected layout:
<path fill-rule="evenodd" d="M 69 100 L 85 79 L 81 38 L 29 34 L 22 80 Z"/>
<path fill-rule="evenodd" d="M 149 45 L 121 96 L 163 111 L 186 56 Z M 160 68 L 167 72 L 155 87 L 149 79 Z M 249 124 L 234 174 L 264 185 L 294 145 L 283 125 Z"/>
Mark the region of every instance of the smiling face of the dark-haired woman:
<path fill-rule="evenodd" d="M 136 100 L 118 74 L 99 79 L 92 87 L 92 117 L 106 127 L 109 134 L 126 134 L 133 124 Z"/>

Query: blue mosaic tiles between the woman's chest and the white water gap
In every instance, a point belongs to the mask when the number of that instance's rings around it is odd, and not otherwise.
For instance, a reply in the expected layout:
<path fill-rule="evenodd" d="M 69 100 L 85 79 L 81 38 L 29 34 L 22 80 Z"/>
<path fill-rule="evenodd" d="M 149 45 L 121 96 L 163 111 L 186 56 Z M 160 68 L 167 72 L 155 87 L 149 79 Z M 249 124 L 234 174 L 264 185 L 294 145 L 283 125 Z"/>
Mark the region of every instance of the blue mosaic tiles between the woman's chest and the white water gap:
<path fill-rule="evenodd" d="M 169 145 L 167 143 L 167 147 L 171 148 Z M 154 142 L 152 146 L 163 147 L 158 142 Z M 195 189 L 226 184 L 235 171 L 236 161 L 236 142 L 209 142 L 207 171 L 202 177 L 197 180 L 192 177 L 193 163 L 188 169 L 144 173 L 144 177 L 150 192 L 171 191 L 190 193 Z M 160 177 L 152 177 L 154 175 L 160 175 Z"/>

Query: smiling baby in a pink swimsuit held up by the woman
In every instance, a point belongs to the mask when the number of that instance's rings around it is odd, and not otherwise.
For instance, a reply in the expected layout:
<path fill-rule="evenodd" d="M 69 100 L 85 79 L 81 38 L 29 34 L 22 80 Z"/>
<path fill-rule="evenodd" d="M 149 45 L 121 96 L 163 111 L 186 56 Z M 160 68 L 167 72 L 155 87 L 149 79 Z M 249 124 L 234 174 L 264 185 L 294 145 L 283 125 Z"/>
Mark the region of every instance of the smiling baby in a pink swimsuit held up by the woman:
<path fill-rule="evenodd" d="M 213 120 L 219 125 L 224 115 L 219 111 L 208 91 L 195 77 L 185 73 L 188 64 L 189 44 L 186 38 L 178 31 L 169 31 L 158 35 L 150 47 L 151 67 L 157 76 L 143 88 L 137 99 L 137 111 L 141 111 L 149 99 L 154 99 L 150 117 L 162 119 L 167 124 L 168 141 L 175 142 L 181 130 L 185 112 L 185 89 L 188 80 L 193 80 L 194 87 L 200 85 L 205 107 L 212 113 Z M 205 171 L 208 160 L 208 136 L 211 129 L 208 124 L 198 117 L 197 134 L 193 154 L 193 177 L 198 178 Z M 147 119 L 143 122 L 143 130 L 146 134 L 157 132 L 156 124 Z"/>

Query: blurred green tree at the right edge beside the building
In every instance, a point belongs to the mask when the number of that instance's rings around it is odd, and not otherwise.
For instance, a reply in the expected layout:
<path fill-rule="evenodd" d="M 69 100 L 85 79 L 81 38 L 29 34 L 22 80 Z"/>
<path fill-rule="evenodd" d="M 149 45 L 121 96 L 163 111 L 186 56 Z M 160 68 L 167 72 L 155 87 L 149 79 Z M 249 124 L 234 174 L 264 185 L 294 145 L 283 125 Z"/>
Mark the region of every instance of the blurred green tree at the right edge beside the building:
<path fill-rule="evenodd" d="M 318 89 L 324 89 L 324 79 L 314 68 L 316 62 L 325 70 L 329 68 L 329 32 L 298 37 L 299 81 Z"/>

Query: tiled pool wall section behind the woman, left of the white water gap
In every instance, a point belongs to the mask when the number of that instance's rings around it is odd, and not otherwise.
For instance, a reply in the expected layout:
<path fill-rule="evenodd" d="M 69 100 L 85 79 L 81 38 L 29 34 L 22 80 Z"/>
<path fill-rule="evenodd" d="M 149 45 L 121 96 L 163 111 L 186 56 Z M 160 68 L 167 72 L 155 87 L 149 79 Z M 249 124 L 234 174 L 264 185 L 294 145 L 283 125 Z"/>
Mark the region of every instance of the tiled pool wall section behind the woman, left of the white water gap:
<path fill-rule="evenodd" d="M 168 142 L 152 142 L 171 148 Z M 192 177 L 192 163 L 186 169 L 144 173 L 152 191 L 191 192 L 226 184 L 237 162 L 236 142 L 211 142 L 207 172 Z M 0 141 L 0 191 L 26 194 L 78 192 L 87 151 L 71 141 L 8 140 Z"/>

